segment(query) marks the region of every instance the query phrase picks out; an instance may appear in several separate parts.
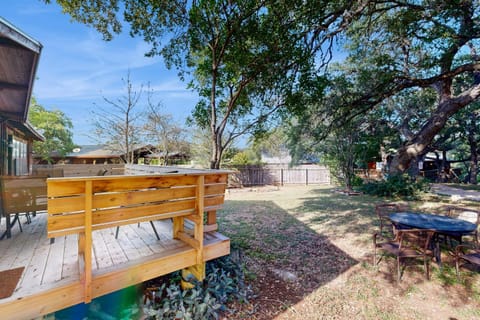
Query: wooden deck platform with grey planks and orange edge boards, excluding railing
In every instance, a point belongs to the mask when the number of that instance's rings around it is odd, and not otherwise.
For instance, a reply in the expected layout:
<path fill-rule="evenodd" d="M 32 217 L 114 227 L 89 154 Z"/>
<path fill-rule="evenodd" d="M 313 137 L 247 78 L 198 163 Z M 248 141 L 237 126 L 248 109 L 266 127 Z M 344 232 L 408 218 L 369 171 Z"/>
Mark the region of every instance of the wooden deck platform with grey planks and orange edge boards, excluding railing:
<path fill-rule="evenodd" d="M 23 224 L 23 232 L 15 226 L 12 238 L 0 241 L 0 270 L 25 267 L 14 294 L 0 300 L 1 318 L 31 319 L 84 301 L 78 234 L 50 244 L 46 216 Z M 118 239 L 115 228 L 93 232 L 92 298 L 196 264 L 195 249 L 172 238 L 169 219 L 154 223 L 160 240 L 148 222 L 121 226 Z M 203 245 L 204 261 L 230 251 L 229 239 L 214 231 L 204 233 Z"/>

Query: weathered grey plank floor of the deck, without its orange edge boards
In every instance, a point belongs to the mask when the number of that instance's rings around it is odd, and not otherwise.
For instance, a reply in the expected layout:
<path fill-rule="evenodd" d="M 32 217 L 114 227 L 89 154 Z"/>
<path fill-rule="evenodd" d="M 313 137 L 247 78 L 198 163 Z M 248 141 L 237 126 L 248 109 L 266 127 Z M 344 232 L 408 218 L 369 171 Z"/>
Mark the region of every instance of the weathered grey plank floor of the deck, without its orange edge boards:
<path fill-rule="evenodd" d="M 26 287 L 62 280 L 78 281 L 78 235 L 59 237 L 50 244 L 46 236 L 46 214 L 38 214 L 31 224 L 26 224 L 23 217 L 21 219 L 23 232 L 15 225 L 12 238 L 0 241 L 0 271 L 25 267 L 14 296 L 21 295 Z M 120 227 L 118 239 L 115 239 L 115 228 L 94 231 L 92 270 L 137 260 L 166 248 L 185 246 L 172 239 L 170 220 L 155 221 L 154 224 L 162 241 L 157 241 L 148 222 Z"/>

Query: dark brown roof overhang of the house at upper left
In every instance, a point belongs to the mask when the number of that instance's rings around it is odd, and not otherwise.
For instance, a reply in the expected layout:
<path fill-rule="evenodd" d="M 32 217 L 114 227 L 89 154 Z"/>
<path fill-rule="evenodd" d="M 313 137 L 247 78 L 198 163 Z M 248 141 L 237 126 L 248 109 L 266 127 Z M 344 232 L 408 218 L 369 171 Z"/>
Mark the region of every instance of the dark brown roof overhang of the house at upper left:
<path fill-rule="evenodd" d="M 0 17 L 0 115 L 26 122 L 42 45 Z"/>

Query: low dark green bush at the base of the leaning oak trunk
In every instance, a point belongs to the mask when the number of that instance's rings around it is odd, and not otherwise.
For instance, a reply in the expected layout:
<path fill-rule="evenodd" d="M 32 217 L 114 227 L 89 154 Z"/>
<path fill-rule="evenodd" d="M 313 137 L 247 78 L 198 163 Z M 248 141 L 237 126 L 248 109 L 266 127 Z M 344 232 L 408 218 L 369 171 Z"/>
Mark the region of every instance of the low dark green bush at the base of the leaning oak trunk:
<path fill-rule="evenodd" d="M 392 175 L 382 181 L 369 182 L 360 187 L 366 194 L 381 197 L 418 199 L 430 189 L 428 182 L 411 178 L 407 174 Z"/>

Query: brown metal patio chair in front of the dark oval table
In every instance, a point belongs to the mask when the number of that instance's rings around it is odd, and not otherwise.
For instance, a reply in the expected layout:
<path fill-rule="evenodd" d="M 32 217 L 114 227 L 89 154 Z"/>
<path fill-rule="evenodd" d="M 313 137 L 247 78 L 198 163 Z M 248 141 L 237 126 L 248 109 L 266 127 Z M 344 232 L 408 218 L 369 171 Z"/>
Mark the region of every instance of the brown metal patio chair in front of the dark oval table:
<path fill-rule="evenodd" d="M 397 279 L 400 281 L 405 260 L 421 258 L 426 278 L 430 279 L 430 260 L 434 255 L 431 240 L 434 233 L 434 230 L 428 229 L 401 229 L 396 231 L 394 240 L 382 243 L 377 243 L 374 236 L 374 265 L 377 266 L 380 262 L 377 260 L 377 250 L 394 255 L 397 258 Z"/>

